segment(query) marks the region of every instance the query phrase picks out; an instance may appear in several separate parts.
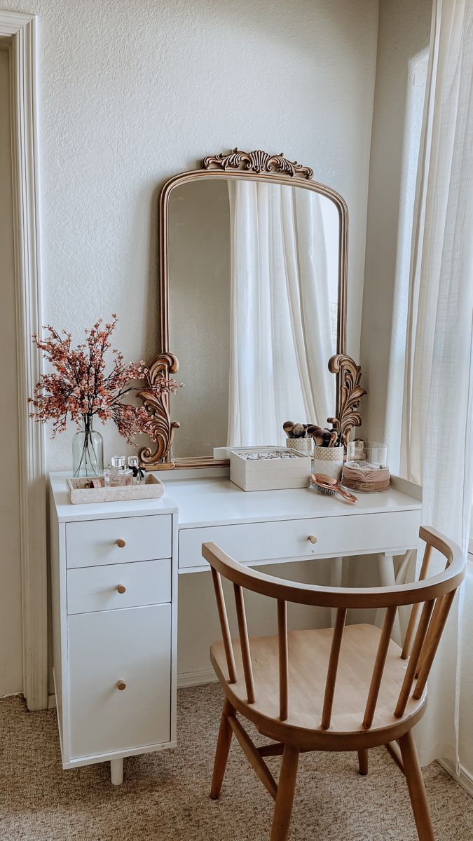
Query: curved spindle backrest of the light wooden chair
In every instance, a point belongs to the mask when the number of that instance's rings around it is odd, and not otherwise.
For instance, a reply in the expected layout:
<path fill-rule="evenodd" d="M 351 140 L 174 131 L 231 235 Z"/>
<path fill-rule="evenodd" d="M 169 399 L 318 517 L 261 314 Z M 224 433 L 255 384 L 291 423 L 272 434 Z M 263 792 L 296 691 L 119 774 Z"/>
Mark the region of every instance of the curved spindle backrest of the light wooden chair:
<path fill-rule="evenodd" d="M 337 667 L 343 641 L 343 630 L 350 608 L 385 607 L 385 620 L 380 633 L 375 664 L 371 675 L 369 691 L 364 710 L 363 727 L 369 729 L 375 717 L 376 702 L 385 668 L 391 632 L 400 606 L 412 606 L 407 626 L 406 637 L 401 657 L 409 658 L 406 674 L 396 703 L 394 715 L 401 718 L 411 696 L 423 695 L 428 674 L 433 664 L 438 643 L 444 630 L 455 592 L 465 577 L 465 557 L 454 542 L 439 534 L 433 528 L 421 526 L 419 536 L 426 543 L 423 564 L 419 579 L 411 584 L 373 589 L 346 589 L 319 587 L 314 584 L 300 584 L 285 581 L 259 572 L 238 563 L 215 546 L 204 543 L 202 554 L 210 563 L 215 598 L 221 623 L 221 634 L 226 653 L 228 682 L 237 682 L 237 668 L 231 633 L 226 613 L 221 577 L 233 584 L 237 609 L 238 633 L 242 653 L 242 668 L 245 679 L 247 701 L 255 702 L 255 685 L 252 673 L 252 657 L 248 637 L 247 617 L 243 589 L 252 590 L 277 601 L 278 637 L 279 637 L 279 719 L 285 721 L 289 716 L 289 651 L 287 603 L 332 607 L 337 609 L 337 616 L 332 633 L 332 646 L 327 664 L 327 679 L 322 707 L 322 729 L 328 729 L 332 717 L 332 704 L 337 681 Z M 446 566 L 443 572 L 428 578 L 428 569 L 432 550 L 437 549 L 444 555 Z M 420 618 L 419 618 L 420 612 Z M 414 680 L 417 678 L 416 685 Z M 413 691 L 412 691 L 413 688 Z"/>

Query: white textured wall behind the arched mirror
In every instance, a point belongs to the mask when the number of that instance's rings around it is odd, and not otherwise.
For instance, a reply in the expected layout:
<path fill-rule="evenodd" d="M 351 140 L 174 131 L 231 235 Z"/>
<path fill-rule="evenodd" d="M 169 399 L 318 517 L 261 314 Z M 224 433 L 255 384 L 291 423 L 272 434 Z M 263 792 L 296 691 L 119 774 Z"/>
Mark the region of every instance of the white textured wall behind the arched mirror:
<path fill-rule="evenodd" d="M 116 311 L 157 352 L 157 195 L 203 156 L 261 147 L 313 167 L 351 214 L 359 351 L 377 0 L 3 0 L 40 17 L 44 319 L 77 337 Z M 71 433 L 50 442 L 68 468 Z M 123 449 L 109 425 L 106 458 Z"/>

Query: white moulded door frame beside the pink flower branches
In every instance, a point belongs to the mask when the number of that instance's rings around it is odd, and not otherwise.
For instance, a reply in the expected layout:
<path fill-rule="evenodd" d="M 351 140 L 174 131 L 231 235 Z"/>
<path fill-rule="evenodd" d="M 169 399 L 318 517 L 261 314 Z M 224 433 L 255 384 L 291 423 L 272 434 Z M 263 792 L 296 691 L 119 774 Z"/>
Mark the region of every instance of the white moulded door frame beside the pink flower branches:
<path fill-rule="evenodd" d="M 0 35 L 11 38 L 23 694 L 29 710 L 48 706 L 45 448 L 42 428 L 29 419 L 28 406 L 41 373 L 40 354 L 31 342 L 31 334 L 41 329 L 37 23 L 35 15 L 0 10 Z"/>

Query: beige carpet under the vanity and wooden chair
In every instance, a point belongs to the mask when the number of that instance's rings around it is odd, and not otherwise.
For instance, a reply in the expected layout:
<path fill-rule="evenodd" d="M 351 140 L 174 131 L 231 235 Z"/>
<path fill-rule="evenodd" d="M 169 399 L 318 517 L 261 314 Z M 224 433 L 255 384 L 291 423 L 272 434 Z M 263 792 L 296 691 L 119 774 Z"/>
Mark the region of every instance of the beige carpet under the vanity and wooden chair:
<path fill-rule="evenodd" d="M 0 701 L 0 838 L 265 841 L 273 801 L 235 745 L 221 800 L 209 798 L 220 710 L 217 685 L 181 690 L 178 748 L 125 759 L 114 787 L 109 764 L 61 769 L 54 711 Z M 291 841 L 417 841 L 401 772 L 384 749 L 369 755 L 368 777 L 354 754 L 301 756 Z M 274 774 L 279 761 L 268 760 Z M 436 841 L 471 841 L 473 800 L 439 764 L 424 775 Z"/>

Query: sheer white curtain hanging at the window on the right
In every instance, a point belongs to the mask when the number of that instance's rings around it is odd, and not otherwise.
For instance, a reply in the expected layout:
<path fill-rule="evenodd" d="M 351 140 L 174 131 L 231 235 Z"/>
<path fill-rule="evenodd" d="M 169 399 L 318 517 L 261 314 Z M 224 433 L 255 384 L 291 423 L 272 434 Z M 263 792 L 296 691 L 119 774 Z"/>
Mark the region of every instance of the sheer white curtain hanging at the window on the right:
<path fill-rule="evenodd" d="M 464 549 L 473 484 L 472 74 L 473 0 L 436 0 L 412 238 L 401 473 L 423 484 L 423 522 Z M 460 594 L 416 727 L 422 764 L 458 764 L 461 610 Z"/>

